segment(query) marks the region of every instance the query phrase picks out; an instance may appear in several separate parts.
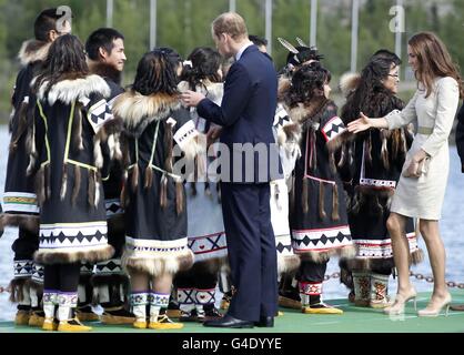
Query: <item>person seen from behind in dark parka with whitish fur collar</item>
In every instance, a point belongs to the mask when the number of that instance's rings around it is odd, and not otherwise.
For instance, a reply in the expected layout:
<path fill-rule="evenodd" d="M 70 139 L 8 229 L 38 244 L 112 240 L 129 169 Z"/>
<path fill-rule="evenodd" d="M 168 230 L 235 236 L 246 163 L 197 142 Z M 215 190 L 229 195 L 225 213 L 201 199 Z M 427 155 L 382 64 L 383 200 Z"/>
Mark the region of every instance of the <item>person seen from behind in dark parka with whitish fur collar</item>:
<path fill-rule="evenodd" d="M 44 265 L 42 328 L 90 331 L 74 312 L 79 274 L 82 262 L 104 261 L 114 252 L 108 244 L 102 186 L 109 149 L 102 145 L 114 140 L 120 125 L 105 100 L 110 88 L 89 73 L 84 48 L 74 36 L 53 42 L 32 85 L 37 109 L 30 168 L 40 205 L 34 260 Z"/>

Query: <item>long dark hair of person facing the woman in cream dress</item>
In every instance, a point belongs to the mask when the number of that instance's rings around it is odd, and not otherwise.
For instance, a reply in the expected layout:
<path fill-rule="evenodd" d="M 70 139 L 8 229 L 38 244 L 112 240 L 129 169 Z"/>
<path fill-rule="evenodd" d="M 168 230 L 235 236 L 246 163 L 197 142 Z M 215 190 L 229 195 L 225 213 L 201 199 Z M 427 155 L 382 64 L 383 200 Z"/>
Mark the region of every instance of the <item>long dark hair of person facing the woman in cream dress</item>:
<path fill-rule="evenodd" d="M 371 115 L 384 114 L 383 106 L 394 99 L 394 93 L 385 88 L 383 81 L 387 79 L 392 68 L 400 65 L 401 60 L 396 54 L 387 51 L 377 51 L 371 57 L 369 63 L 361 71 L 357 88 L 349 94 L 346 103 L 342 108 L 342 119 L 345 123 L 360 116 L 360 112 Z"/>

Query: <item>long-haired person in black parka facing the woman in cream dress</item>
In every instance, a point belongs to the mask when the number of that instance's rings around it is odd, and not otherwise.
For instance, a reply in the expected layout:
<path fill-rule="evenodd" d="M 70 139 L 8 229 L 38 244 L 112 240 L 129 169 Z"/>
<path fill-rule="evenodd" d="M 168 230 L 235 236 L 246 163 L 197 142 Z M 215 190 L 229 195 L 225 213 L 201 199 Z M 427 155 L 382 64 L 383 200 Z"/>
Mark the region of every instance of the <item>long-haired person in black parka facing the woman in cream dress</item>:
<path fill-rule="evenodd" d="M 402 110 L 404 103 L 395 97 L 399 83 L 400 58 L 387 51 L 377 51 L 361 71 L 341 82 L 352 88 L 342 108 L 345 124 L 356 120 L 360 112 L 384 116 Z M 341 261 L 352 273 L 354 303 L 357 306 L 382 308 L 389 305 L 389 277 L 394 267 L 392 241 L 386 229 L 390 203 L 406 152 L 412 143 L 407 128 L 393 131 L 370 130 L 357 134 L 343 146 L 352 162 L 349 220 L 356 256 Z M 422 260 L 413 219 L 407 219 L 406 236 L 413 263 Z M 342 273 L 343 274 L 343 273 Z"/>

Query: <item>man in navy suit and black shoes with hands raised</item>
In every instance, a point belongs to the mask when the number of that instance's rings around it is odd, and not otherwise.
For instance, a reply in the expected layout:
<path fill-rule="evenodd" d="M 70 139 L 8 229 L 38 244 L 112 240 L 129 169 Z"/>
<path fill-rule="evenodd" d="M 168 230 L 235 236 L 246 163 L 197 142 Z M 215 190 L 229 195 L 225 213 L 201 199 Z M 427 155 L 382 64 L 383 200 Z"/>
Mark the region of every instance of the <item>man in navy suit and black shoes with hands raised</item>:
<path fill-rule="evenodd" d="M 212 34 L 222 55 L 235 57 L 225 78 L 222 104 L 219 106 L 192 91 L 183 93 L 182 100 L 186 105 L 196 106 L 200 116 L 223 126 L 220 141 L 232 156 L 229 166 L 221 166 L 221 193 L 231 277 L 236 293 L 228 314 L 204 325 L 273 326 L 278 311 L 278 275 L 269 182 L 280 175 L 279 152 L 272 133 L 276 73 L 269 58 L 249 40 L 245 22 L 238 13 L 228 12 L 216 18 Z M 275 160 L 278 163 L 273 164 Z M 228 169 L 229 181 L 224 173 Z"/>

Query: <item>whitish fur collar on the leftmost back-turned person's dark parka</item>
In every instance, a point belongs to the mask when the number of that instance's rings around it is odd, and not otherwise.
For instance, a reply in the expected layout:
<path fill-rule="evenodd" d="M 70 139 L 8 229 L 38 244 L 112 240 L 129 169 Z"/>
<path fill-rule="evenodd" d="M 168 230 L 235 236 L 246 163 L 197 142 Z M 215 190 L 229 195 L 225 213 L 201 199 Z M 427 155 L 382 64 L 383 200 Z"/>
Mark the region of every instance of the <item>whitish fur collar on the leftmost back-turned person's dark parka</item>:
<path fill-rule="evenodd" d="M 32 81 L 31 85 L 33 85 L 34 82 L 36 79 Z M 48 81 L 41 83 L 37 93 L 39 100 L 44 99 L 47 85 Z M 73 80 L 67 79 L 57 82 L 53 87 L 51 87 L 50 91 L 48 92 L 48 101 L 50 105 L 52 105 L 57 101 L 70 104 L 74 100 L 79 100 L 81 98 L 89 98 L 91 93 L 97 92 L 102 94 L 104 98 L 109 98 L 111 95 L 110 87 L 108 87 L 103 78 L 91 74 L 85 78 L 79 78 Z"/>

